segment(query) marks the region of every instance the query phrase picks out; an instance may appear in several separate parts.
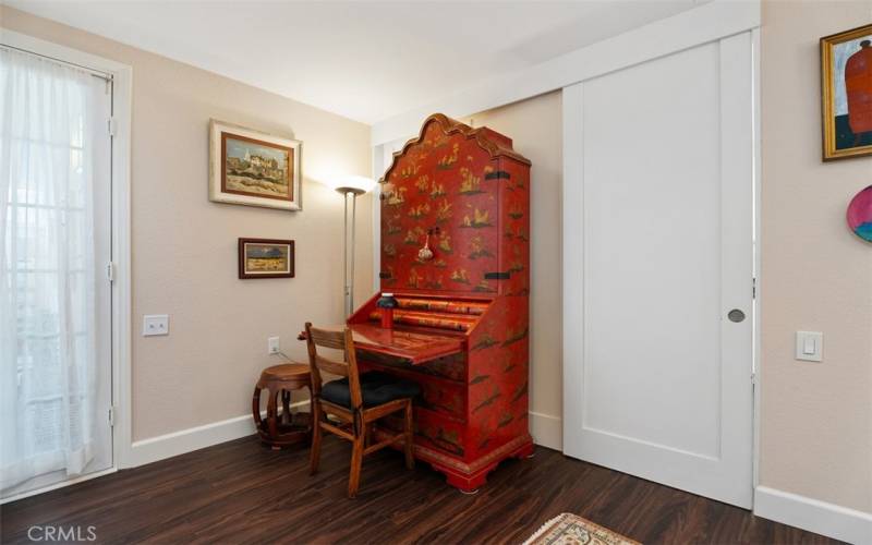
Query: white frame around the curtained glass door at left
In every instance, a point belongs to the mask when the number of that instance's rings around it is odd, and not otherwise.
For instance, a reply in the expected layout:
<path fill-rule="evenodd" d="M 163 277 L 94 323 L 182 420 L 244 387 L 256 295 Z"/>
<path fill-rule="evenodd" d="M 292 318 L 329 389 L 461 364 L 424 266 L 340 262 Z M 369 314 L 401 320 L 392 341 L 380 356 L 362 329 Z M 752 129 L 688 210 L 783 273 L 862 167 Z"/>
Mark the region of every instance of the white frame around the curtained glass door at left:
<path fill-rule="evenodd" d="M 62 62 L 102 72 L 112 77 L 112 137 L 111 137 L 111 342 L 112 342 L 112 467 L 66 480 L 43 488 L 10 496 L 7 504 L 27 496 L 41 494 L 80 483 L 130 467 L 132 443 L 131 398 L 131 109 L 133 98 L 133 68 L 113 60 L 72 49 L 52 41 L 10 31 L 0 26 L 0 44 L 50 57 Z M 109 130 L 109 128 L 107 128 Z M 98 272 L 99 274 L 99 272 Z M 107 414 L 107 419 L 109 415 Z"/>

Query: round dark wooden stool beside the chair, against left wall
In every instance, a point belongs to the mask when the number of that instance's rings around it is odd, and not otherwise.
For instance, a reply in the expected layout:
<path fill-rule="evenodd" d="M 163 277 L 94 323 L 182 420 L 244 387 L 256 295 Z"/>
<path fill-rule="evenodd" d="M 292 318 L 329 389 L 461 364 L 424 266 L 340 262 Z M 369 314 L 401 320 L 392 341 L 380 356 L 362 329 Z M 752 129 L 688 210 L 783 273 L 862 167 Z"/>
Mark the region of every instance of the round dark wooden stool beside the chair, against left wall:
<path fill-rule="evenodd" d="M 308 388 L 310 412 L 291 414 L 291 391 Z M 266 420 L 261 417 L 261 391 L 269 390 L 266 402 Z M 281 396 L 281 414 L 278 412 Z M 308 365 L 304 363 L 286 363 L 267 367 L 261 373 L 261 379 L 254 387 L 252 413 L 257 435 L 261 440 L 279 450 L 282 447 L 308 440 L 312 436 L 312 379 Z"/>

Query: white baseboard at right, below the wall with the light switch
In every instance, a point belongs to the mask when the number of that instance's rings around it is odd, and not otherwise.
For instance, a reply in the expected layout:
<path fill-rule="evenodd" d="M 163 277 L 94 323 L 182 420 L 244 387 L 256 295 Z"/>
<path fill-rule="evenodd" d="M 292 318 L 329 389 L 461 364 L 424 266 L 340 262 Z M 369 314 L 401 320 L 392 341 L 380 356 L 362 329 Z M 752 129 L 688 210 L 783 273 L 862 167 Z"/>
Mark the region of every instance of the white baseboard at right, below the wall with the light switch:
<path fill-rule="evenodd" d="M 872 544 L 872 514 L 798 494 L 758 486 L 754 514 L 855 545 Z"/>

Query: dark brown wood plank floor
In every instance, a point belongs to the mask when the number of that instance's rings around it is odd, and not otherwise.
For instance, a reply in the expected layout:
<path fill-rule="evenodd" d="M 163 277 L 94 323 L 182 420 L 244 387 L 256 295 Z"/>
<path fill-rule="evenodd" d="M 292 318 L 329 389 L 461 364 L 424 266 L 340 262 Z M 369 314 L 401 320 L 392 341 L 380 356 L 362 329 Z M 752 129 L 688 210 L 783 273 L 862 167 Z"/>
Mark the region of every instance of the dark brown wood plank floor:
<path fill-rule="evenodd" d="M 521 543 L 574 512 L 644 543 L 836 543 L 731 506 L 537 448 L 505 462 L 474 496 L 382 451 L 346 499 L 348 444 L 271 451 L 255 437 L 121 471 L 0 507 L 2 543 L 32 525 L 95 526 L 99 543 Z"/>

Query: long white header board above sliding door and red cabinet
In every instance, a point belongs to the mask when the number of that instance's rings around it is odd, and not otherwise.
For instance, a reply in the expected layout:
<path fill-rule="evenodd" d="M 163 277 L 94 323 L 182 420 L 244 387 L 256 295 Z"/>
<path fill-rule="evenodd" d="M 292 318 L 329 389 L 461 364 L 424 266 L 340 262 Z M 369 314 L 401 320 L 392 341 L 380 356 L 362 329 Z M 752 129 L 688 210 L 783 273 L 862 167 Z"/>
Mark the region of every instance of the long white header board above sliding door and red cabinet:
<path fill-rule="evenodd" d="M 435 111 L 453 118 L 470 116 L 740 34 L 760 24 L 760 0 L 713 0 L 379 121 L 372 129 L 372 145 L 416 134 L 421 121 Z"/>

